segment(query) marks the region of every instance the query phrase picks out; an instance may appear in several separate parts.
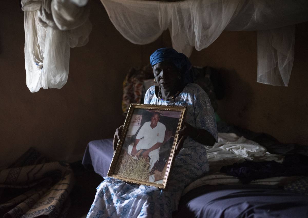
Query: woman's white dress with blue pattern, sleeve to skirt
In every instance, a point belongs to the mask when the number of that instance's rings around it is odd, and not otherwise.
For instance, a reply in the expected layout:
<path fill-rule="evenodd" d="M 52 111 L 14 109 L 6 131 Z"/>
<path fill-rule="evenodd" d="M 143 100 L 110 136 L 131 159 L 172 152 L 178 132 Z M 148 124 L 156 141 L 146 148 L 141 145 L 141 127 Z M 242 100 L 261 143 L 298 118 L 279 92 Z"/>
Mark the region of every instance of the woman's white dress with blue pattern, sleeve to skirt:
<path fill-rule="evenodd" d="M 185 122 L 209 131 L 217 141 L 213 108 L 208 95 L 197 84 L 187 84 L 180 95 L 170 101 L 159 100 L 155 95 L 155 86 L 152 86 L 144 96 L 144 103 L 186 106 Z M 188 136 L 176 156 L 167 191 L 104 177 L 104 181 L 96 188 L 95 199 L 87 218 L 171 217 L 172 211 L 177 210 L 184 188 L 208 171 L 204 145 Z"/>

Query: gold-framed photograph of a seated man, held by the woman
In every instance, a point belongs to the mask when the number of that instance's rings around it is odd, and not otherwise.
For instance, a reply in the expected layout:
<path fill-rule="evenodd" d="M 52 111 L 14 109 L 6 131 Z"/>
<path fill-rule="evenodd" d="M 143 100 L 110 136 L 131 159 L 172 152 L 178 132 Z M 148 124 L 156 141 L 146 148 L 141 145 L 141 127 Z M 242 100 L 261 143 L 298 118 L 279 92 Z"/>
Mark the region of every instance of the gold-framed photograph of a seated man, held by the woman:
<path fill-rule="evenodd" d="M 131 104 L 107 176 L 166 189 L 185 107 Z"/>

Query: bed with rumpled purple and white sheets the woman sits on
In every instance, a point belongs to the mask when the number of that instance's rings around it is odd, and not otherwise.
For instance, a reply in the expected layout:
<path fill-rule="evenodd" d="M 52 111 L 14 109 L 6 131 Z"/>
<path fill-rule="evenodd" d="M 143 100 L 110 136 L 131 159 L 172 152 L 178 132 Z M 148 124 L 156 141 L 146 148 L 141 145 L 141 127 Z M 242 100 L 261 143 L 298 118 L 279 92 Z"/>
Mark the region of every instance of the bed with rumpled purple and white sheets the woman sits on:
<path fill-rule="evenodd" d="M 173 217 L 308 217 L 308 147 L 282 144 L 270 135 L 223 122 L 218 127 L 218 143 L 207 148 L 210 172 L 184 189 Z M 112 139 L 94 140 L 82 163 L 106 176 L 112 155 Z M 257 164 L 255 174 L 230 174 L 245 163 Z M 289 171 L 270 172 L 269 165 L 262 164 L 288 164 Z M 263 173 L 256 174 L 256 167 Z"/>

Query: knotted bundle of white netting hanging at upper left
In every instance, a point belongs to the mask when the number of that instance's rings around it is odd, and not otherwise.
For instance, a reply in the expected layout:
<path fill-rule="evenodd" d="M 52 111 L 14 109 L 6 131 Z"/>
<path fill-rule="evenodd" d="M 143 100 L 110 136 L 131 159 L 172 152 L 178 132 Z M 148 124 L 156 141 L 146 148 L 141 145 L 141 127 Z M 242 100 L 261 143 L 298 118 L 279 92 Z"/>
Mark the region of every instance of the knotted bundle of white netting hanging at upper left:
<path fill-rule="evenodd" d="M 62 88 L 69 72 L 70 48 L 88 42 L 92 26 L 87 0 L 22 0 L 26 84 Z"/>

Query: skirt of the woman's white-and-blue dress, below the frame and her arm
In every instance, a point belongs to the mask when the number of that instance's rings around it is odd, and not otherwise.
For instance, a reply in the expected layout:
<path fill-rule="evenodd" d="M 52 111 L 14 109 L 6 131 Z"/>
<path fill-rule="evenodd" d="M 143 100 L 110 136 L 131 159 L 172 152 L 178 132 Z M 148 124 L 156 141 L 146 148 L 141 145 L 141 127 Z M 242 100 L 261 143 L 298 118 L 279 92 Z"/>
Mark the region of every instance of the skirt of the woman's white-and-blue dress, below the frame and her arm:
<path fill-rule="evenodd" d="M 171 217 L 184 187 L 208 171 L 205 148 L 185 147 L 176 156 L 167 191 L 104 177 L 87 218 Z"/>

